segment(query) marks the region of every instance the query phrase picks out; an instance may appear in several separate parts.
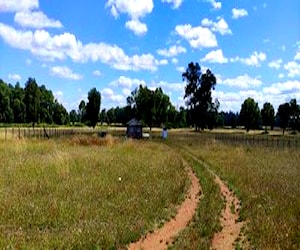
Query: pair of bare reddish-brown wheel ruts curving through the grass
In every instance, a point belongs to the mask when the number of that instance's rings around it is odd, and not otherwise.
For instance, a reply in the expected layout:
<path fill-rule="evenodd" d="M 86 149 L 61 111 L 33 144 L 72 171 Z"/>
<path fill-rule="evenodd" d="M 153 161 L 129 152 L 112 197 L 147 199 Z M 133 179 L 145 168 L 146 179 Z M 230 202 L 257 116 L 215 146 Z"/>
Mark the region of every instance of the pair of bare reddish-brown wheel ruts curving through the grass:
<path fill-rule="evenodd" d="M 205 168 L 215 177 L 215 182 L 220 187 L 220 192 L 225 202 L 225 208 L 220 218 L 222 230 L 215 233 L 213 236 L 211 249 L 235 249 L 235 241 L 240 236 L 241 228 L 244 225 L 243 222 L 238 222 L 240 201 L 205 162 L 190 153 L 188 153 L 188 155 L 204 165 Z M 175 218 L 167 222 L 162 228 L 155 230 L 153 233 L 148 233 L 145 237 L 135 243 L 131 243 L 128 249 L 167 249 L 167 247 L 172 244 L 173 238 L 179 233 L 179 231 L 183 230 L 188 225 L 195 214 L 201 192 L 199 181 L 190 168 L 188 168 L 188 175 L 191 179 L 191 187 L 186 199 L 179 206 Z"/>

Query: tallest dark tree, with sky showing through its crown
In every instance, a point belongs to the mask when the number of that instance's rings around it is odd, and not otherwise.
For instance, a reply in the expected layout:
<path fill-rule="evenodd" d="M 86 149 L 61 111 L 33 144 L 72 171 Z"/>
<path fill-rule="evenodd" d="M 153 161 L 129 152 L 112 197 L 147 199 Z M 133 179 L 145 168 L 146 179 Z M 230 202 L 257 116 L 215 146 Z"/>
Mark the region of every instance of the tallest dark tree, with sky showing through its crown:
<path fill-rule="evenodd" d="M 182 74 L 182 79 L 186 81 L 184 98 L 196 131 L 211 126 L 211 114 L 218 107 L 211 97 L 217 84 L 216 77 L 209 69 L 202 74 L 199 64 L 191 62 Z"/>

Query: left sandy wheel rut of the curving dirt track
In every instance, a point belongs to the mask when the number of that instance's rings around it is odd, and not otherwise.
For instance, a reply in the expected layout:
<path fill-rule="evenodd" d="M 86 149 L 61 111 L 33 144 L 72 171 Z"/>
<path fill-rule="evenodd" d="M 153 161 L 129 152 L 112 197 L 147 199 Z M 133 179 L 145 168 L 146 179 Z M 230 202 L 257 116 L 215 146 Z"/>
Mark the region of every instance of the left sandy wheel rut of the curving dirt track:
<path fill-rule="evenodd" d="M 187 198 L 178 208 L 175 218 L 167 222 L 162 228 L 147 234 L 138 242 L 131 243 L 128 249 L 167 249 L 179 231 L 188 225 L 196 212 L 201 192 L 199 181 L 190 168 L 188 168 L 188 176 L 191 179 L 191 187 Z"/>

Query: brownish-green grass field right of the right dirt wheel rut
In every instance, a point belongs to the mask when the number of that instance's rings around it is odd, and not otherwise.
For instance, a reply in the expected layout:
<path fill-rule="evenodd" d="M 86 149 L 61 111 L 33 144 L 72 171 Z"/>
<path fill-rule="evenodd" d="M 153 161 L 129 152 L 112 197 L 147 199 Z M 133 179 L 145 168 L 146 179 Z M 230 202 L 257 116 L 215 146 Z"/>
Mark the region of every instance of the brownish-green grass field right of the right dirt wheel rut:
<path fill-rule="evenodd" d="M 211 169 L 236 192 L 242 201 L 241 219 L 247 222 L 245 233 L 253 248 L 299 249 L 299 149 L 230 146 L 195 133 L 193 136 L 170 134 L 170 144 L 180 145 L 209 163 Z M 199 168 L 201 166 L 195 166 L 197 171 Z M 215 217 L 217 211 L 208 212 L 208 217 Z M 198 218 L 198 227 L 206 220 Z M 199 228 L 196 229 L 198 238 L 201 238 Z M 197 231 L 193 227 L 189 230 Z M 189 244 L 198 241 L 189 234 L 180 240 Z"/>

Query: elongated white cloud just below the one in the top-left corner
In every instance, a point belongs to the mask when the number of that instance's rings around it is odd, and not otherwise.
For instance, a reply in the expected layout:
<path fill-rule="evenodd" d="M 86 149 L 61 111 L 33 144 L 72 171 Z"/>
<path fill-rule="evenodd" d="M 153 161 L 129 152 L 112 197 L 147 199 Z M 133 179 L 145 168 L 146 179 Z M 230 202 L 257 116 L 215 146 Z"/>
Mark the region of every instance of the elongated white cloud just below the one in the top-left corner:
<path fill-rule="evenodd" d="M 61 28 L 63 25 L 60 21 L 48 18 L 41 11 L 34 12 L 17 12 L 14 17 L 14 21 L 22 27 L 30 28 Z"/>

